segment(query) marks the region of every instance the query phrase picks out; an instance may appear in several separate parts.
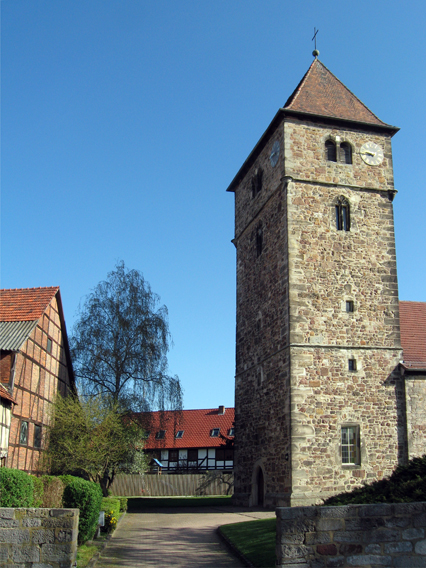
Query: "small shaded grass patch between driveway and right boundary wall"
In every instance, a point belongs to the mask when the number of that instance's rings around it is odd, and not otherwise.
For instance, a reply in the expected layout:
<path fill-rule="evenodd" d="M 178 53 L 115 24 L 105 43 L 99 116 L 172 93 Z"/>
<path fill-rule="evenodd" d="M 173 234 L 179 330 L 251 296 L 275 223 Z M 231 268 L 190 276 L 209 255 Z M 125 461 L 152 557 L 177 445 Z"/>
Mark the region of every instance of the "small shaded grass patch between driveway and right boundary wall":
<path fill-rule="evenodd" d="M 254 566 L 274 568 L 276 519 L 261 519 L 219 527 Z"/>

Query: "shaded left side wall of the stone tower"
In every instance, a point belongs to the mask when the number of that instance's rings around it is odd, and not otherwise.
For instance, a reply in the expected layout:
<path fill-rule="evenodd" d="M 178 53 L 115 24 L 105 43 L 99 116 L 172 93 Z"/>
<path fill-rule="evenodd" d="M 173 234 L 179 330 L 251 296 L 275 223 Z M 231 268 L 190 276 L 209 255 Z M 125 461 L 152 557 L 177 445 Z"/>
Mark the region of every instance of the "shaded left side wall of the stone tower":
<path fill-rule="evenodd" d="M 237 335 L 234 500 L 257 505 L 256 472 L 262 469 L 264 503 L 288 504 L 290 408 L 286 196 L 279 162 L 269 161 L 278 128 L 235 192 Z M 282 144 L 281 144 L 282 147 Z M 252 179 L 262 168 L 261 191 Z M 282 170 L 281 170 L 282 171 Z M 262 251 L 256 235 L 262 228 Z"/>

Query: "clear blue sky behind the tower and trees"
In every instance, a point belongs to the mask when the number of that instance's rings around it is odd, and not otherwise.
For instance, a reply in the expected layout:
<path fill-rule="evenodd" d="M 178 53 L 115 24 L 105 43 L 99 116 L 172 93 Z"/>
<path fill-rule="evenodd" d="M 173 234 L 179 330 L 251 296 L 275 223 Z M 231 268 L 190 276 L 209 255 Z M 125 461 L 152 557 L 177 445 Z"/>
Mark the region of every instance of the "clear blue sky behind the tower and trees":
<path fill-rule="evenodd" d="M 185 408 L 234 404 L 226 188 L 312 61 L 393 139 L 399 293 L 426 301 L 426 3 L 3 0 L 1 286 L 80 300 L 123 259 L 169 309 Z"/>

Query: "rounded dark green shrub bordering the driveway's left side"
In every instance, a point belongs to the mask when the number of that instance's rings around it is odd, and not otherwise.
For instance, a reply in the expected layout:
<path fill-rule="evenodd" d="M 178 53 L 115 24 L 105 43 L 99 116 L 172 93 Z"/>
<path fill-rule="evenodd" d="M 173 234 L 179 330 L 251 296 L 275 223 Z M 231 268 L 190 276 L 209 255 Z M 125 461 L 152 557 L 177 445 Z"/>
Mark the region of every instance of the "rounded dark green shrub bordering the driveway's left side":
<path fill-rule="evenodd" d="M 97 483 L 75 478 L 64 490 L 64 507 L 80 509 L 78 541 L 80 544 L 93 538 L 98 526 L 101 510 L 102 491 Z"/>

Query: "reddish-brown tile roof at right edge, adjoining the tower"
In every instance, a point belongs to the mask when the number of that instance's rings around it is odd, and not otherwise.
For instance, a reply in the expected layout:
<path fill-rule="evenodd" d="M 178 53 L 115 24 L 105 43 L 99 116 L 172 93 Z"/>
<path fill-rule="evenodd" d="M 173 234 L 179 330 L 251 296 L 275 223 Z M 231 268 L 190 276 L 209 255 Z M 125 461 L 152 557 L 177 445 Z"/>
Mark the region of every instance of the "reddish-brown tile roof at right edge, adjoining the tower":
<path fill-rule="evenodd" d="M 399 302 L 399 318 L 405 366 L 426 369 L 426 302 Z"/>

